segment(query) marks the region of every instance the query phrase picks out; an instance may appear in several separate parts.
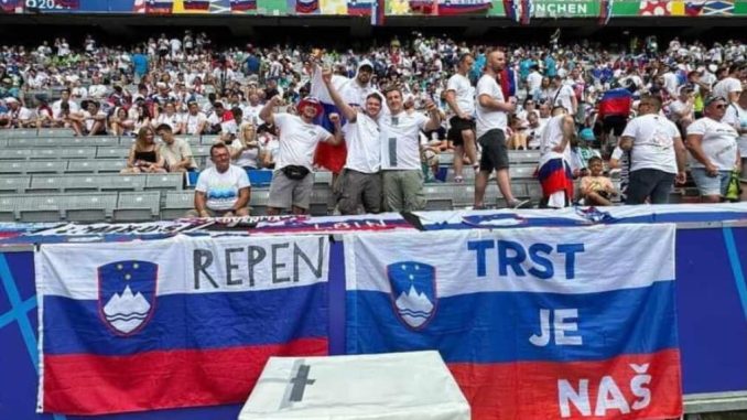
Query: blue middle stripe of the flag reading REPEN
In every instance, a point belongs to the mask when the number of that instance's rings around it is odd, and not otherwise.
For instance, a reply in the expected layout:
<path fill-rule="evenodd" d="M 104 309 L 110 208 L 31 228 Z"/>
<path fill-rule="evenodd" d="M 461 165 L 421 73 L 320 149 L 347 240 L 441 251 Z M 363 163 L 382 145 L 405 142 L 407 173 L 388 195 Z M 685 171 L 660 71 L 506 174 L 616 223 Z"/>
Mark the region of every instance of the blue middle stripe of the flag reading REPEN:
<path fill-rule="evenodd" d="M 158 298 L 148 325 L 127 340 L 107 329 L 97 301 L 45 297 L 44 352 L 128 355 L 326 338 L 326 283 L 318 283 L 271 291 L 163 295 Z"/>

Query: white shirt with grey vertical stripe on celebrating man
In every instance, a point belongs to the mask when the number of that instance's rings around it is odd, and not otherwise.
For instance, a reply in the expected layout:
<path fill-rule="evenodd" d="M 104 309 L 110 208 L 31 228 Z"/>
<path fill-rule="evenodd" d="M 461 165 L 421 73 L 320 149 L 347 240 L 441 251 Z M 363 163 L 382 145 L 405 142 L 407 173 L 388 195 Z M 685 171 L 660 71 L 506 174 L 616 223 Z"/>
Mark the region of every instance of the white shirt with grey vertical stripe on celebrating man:
<path fill-rule="evenodd" d="M 407 111 L 379 118 L 382 170 L 421 170 L 420 130 L 427 121 L 420 112 Z"/>

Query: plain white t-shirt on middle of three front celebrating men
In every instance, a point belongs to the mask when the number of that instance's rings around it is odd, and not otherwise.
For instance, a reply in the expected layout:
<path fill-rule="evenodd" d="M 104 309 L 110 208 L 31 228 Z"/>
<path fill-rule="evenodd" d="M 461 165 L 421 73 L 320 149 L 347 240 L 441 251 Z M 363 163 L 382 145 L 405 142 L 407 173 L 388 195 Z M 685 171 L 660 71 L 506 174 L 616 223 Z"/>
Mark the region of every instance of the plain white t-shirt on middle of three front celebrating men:
<path fill-rule="evenodd" d="M 345 168 L 362 173 L 379 172 L 381 169 L 381 143 L 377 121 L 358 111 L 355 122 L 348 121 L 343 126 L 343 134 L 345 134 L 347 144 Z"/>

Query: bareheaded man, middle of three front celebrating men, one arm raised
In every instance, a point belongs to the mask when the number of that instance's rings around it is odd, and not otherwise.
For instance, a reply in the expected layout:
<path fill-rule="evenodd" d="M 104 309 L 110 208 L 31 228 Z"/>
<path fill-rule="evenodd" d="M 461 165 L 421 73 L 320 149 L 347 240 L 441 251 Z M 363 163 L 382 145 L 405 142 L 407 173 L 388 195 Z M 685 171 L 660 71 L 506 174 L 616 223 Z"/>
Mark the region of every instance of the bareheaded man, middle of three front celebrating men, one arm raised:
<path fill-rule="evenodd" d="M 332 71 L 324 69 L 324 84 L 333 103 L 347 122 L 343 127 L 347 157 L 345 168 L 336 181 L 337 208 L 344 215 L 381 212 L 381 147 L 379 115 L 381 96 L 371 93 L 362 110 L 349 106 L 332 83 Z"/>

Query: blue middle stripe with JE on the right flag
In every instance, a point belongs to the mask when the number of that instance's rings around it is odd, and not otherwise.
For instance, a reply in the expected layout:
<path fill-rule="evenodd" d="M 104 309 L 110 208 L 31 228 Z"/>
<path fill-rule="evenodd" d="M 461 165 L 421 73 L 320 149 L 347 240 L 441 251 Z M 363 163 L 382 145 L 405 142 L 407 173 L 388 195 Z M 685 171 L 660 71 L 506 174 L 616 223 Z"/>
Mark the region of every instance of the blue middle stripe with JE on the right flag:
<path fill-rule="evenodd" d="M 348 292 L 348 353 L 439 349 L 447 363 L 583 362 L 649 354 L 678 345 L 674 282 L 588 294 L 473 293 L 441 298 L 434 319 L 414 332 L 389 294 Z M 578 309 L 583 345 L 538 347 L 540 309 Z M 551 321 L 552 322 L 552 321 Z"/>

